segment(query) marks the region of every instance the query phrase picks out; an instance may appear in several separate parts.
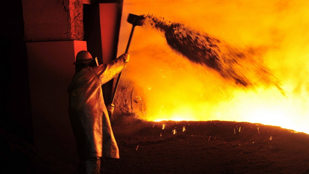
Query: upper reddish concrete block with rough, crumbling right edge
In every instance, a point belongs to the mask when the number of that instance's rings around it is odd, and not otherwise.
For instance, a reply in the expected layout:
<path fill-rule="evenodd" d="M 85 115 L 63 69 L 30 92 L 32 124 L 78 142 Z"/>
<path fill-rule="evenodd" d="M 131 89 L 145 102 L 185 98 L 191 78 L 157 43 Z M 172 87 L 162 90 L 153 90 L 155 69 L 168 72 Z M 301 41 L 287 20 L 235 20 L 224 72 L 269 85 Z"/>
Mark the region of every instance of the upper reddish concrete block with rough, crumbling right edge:
<path fill-rule="evenodd" d="M 23 0 L 25 41 L 83 40 L 83 0 Z"/>

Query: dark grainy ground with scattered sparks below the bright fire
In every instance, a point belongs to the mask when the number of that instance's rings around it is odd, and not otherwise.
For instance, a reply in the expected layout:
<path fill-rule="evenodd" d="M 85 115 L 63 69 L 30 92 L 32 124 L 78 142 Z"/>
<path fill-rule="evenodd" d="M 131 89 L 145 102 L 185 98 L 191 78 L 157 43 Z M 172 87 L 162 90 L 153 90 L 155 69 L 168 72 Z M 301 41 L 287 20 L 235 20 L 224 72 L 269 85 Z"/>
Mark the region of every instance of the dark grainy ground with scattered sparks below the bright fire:
<path fill-rule="evenodd" d="M 121 158 L 102 161 L 101 173 L 309 173 L 309 135 L 276 126 L 128 117 L 114 123 L 113 131 Z M 0 173 L 76 173 L 77 164 L 5 131 L 0 138 Z"/>

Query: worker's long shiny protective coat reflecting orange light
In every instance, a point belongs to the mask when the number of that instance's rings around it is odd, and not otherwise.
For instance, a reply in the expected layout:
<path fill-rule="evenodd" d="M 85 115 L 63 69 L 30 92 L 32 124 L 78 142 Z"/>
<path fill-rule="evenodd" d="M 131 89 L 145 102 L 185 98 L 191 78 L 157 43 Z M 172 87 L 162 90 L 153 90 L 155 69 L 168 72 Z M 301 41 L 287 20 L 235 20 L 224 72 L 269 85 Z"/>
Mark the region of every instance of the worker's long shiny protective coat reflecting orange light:
<path fill-rule="evenodd" d="M 125 57 L 121 55 L 111 63 L 85 67 L 72 78 L 68 111 L 80 158 L 119 158 L 101 86 L 125 66 Z"/>

